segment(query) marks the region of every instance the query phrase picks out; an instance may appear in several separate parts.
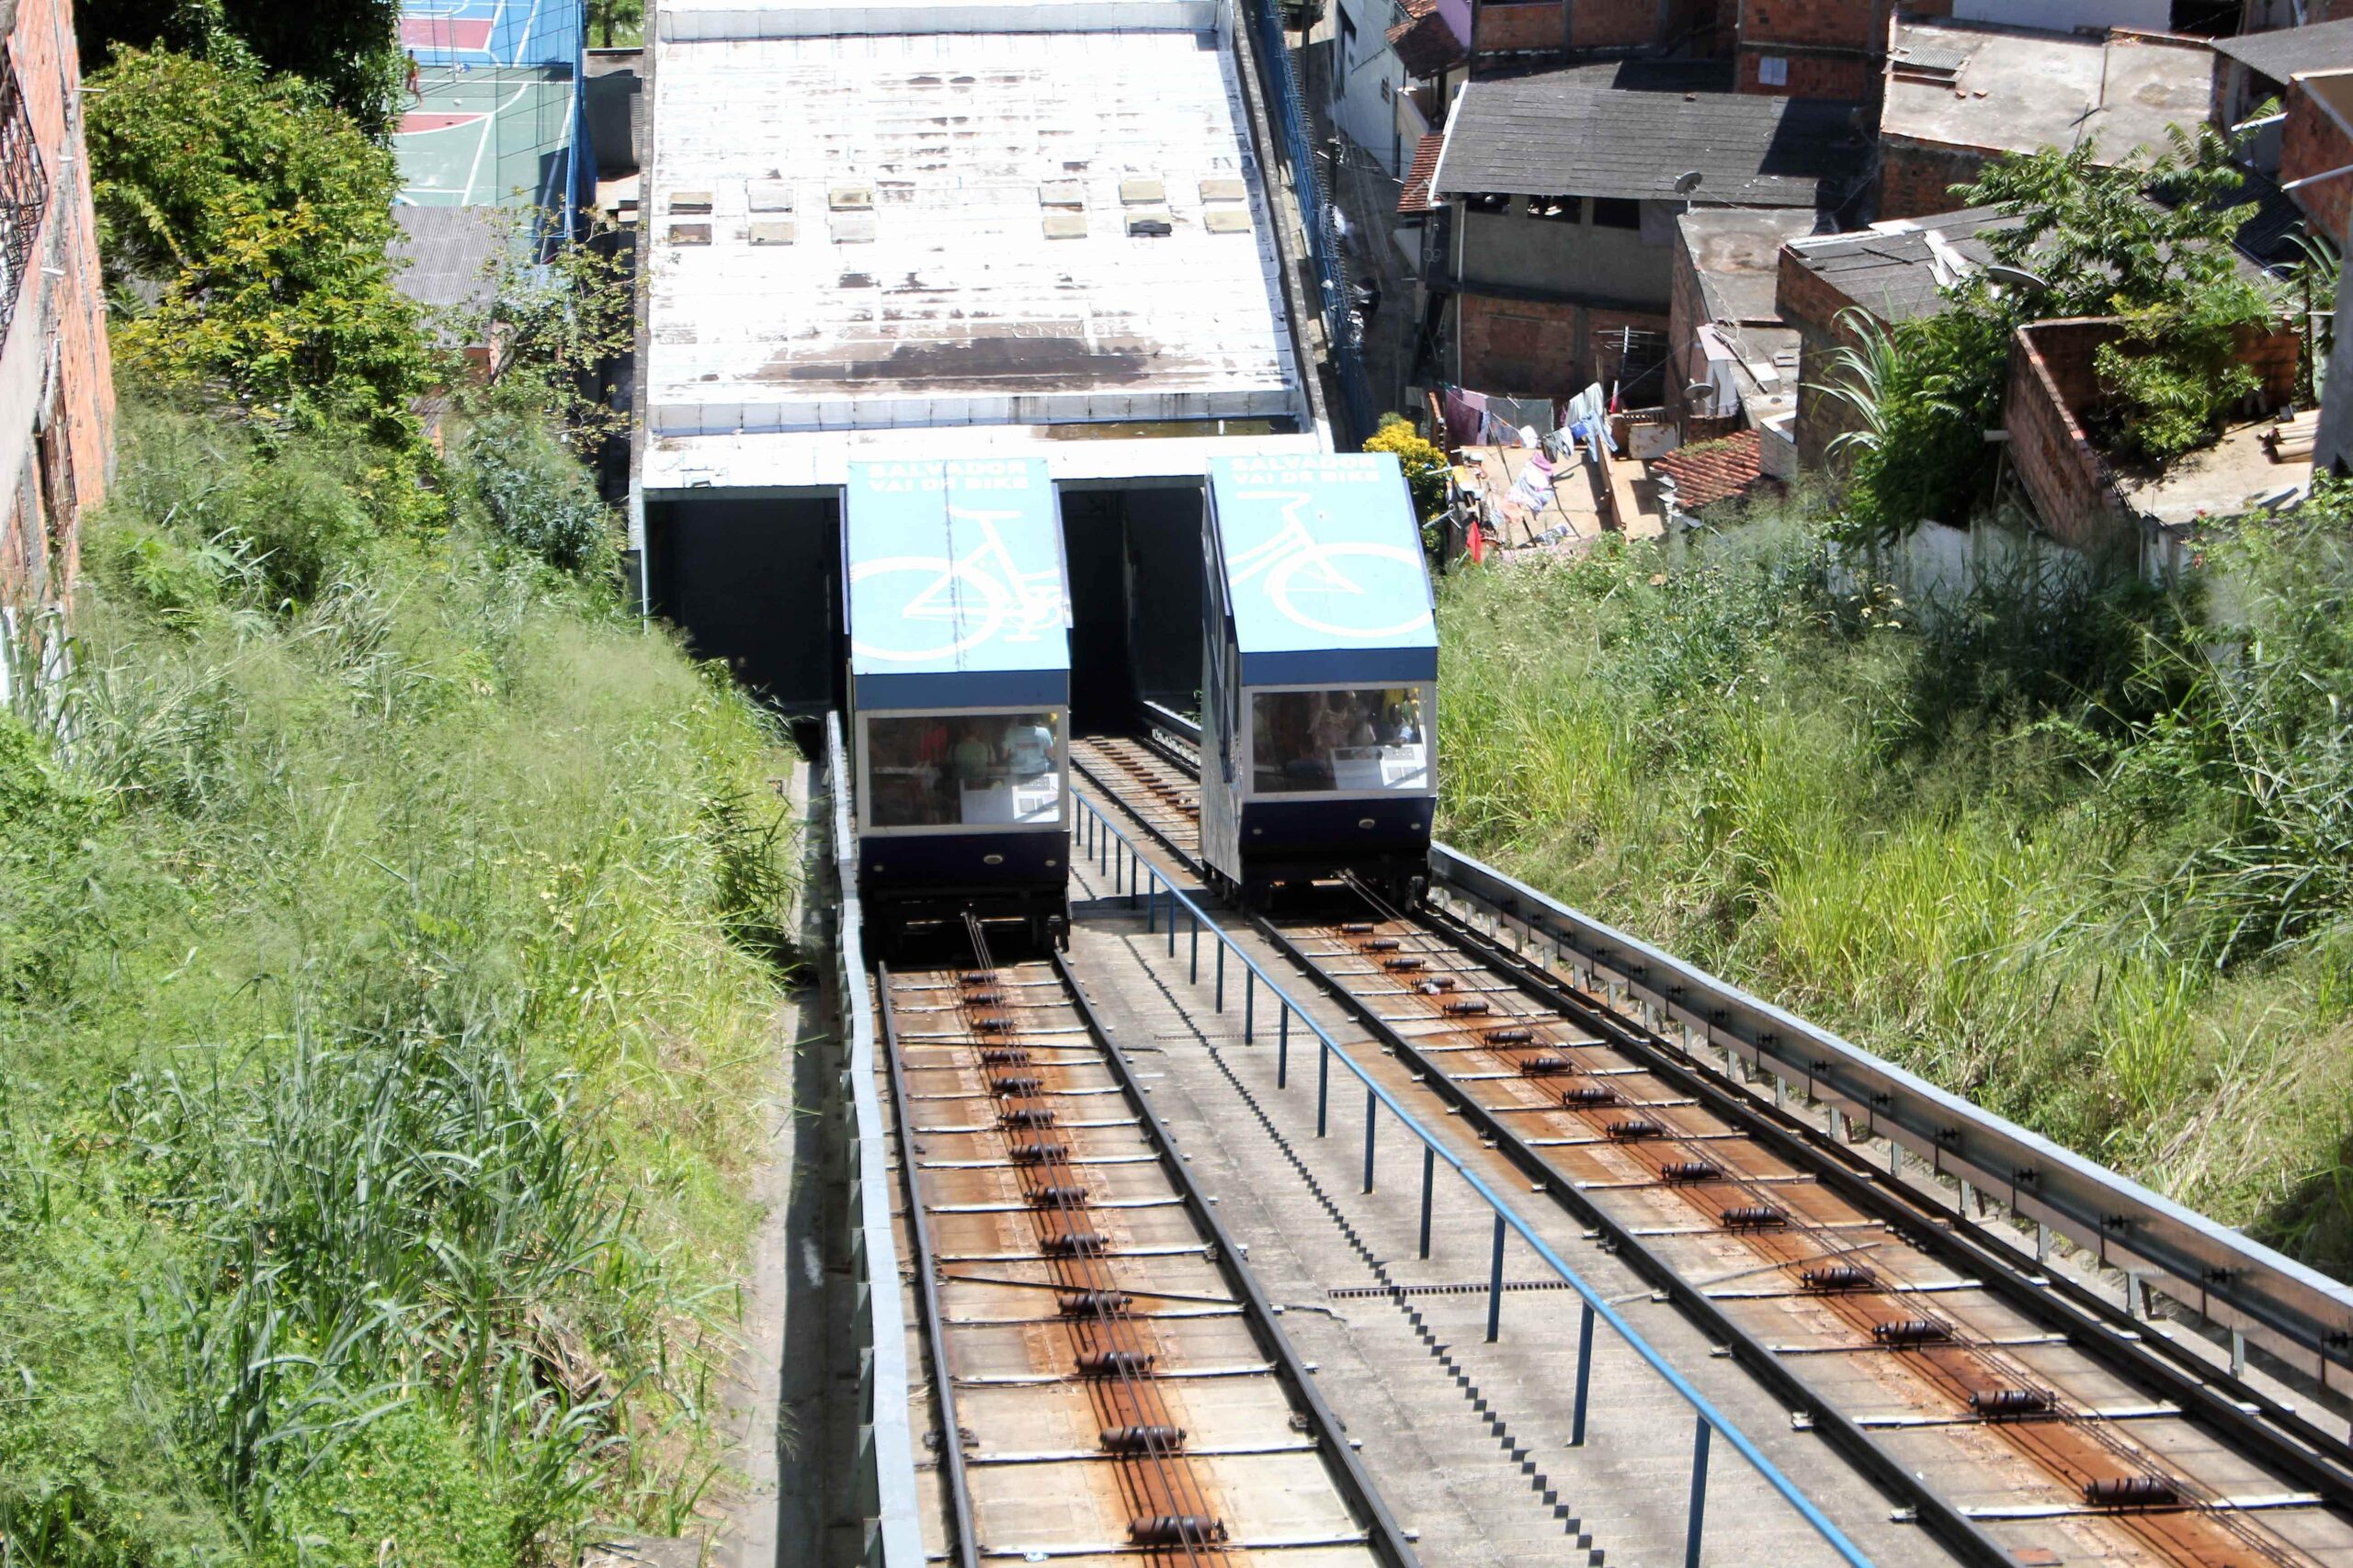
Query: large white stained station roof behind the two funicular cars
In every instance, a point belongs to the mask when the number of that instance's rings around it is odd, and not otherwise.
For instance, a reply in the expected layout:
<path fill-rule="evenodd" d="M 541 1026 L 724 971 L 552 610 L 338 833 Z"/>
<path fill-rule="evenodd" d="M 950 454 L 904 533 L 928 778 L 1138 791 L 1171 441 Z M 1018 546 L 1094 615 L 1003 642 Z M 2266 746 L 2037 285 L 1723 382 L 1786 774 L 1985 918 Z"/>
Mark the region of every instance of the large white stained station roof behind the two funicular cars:
<path fill-rule="evenodd" d="M 1304 418 L 1266 193 L 1214 33 L 659 49 L 649 487 L 664 437 Z M 1132 181 L 1160 181 L 1165 200 Z M 1146 209 L 1169 233 L 1129 235 Z M 1049 216 L 1082 216 L 1085 237 L 1047 237 Z M 704 226 L 708 242 L 689 242 Z"/>

